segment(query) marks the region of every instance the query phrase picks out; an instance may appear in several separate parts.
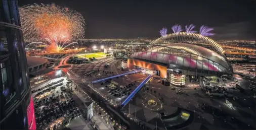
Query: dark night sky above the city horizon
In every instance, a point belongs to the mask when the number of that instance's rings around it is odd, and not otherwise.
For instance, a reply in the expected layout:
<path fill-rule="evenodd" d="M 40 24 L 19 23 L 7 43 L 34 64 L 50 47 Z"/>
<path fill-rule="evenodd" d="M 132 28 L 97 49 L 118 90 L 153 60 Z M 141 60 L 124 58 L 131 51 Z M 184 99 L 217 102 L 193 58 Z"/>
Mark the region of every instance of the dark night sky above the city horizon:
<path fill-rule="evenodd" d="M 19 6 L 55 3 L 86 20 L 86 38 L 157 38 L 163 27 L 193 23 L 214 27 L 216 39 L 255 40 L 255 1 L 20 0 Z"/>

